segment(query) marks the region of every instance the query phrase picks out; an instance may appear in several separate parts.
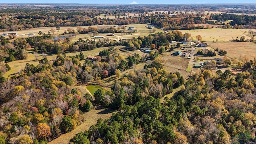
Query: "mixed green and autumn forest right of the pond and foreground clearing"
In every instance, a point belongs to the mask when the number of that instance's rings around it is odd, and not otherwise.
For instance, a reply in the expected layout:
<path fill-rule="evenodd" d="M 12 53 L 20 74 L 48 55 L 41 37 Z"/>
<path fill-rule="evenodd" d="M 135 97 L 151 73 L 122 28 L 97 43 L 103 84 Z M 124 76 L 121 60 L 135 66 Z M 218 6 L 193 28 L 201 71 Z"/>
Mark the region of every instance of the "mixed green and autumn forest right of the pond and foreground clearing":
<path fill-rule="evenodd" d="M 183 78 L 164 71 L 162 62 L 156 59 L 116 82 L 112 88 L 116 114 L 108 120 L 99 119 L 70 142 L 229 144 L 237 134 L 247 134 L 254 141 L 255 60 L 250 65 L 248 72 L 237 76 L 232 76 L 230 70 L 218 70 L 213 76 L 206 69 L 182 85 Z M 170 85 L 182 85 L 181 90 L 160 102 L 164 94 L 172 91 Z M 240 142 L 248 140 L 242 138 Z"/>

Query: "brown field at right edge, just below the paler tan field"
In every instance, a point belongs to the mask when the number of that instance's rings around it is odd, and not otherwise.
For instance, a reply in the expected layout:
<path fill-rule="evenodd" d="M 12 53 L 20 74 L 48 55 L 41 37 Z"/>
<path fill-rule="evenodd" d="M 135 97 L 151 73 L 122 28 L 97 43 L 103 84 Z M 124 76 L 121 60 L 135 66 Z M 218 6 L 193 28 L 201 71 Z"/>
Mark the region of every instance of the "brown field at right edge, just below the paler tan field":
<path fill-rule="evenodd" d="M 240 56 L 247 56 L 249 60 L 256 58 L 256 43 L 254 42 L 208 42 L 212 48 L 226 50 L 230 58 L 240 59 Z"/>

